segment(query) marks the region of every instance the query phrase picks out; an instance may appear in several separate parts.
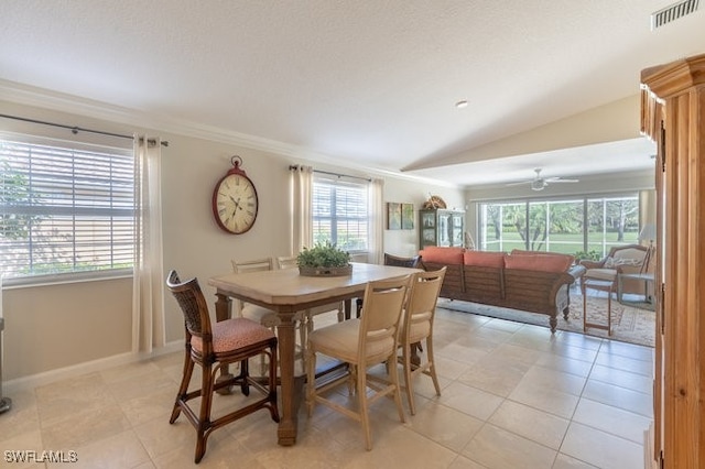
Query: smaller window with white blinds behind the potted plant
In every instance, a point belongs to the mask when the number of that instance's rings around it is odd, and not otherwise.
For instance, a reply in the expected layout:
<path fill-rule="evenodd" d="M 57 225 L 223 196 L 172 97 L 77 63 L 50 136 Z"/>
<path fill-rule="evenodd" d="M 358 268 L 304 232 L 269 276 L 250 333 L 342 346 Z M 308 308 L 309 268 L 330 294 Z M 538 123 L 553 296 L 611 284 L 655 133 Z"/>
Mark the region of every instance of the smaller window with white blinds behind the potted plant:
<path fill-rule="evenodd" d="M 314 177 L 314 242 L 330 241 L 348 252 L 368 250 L 369 215 L 367 183 Z"/>

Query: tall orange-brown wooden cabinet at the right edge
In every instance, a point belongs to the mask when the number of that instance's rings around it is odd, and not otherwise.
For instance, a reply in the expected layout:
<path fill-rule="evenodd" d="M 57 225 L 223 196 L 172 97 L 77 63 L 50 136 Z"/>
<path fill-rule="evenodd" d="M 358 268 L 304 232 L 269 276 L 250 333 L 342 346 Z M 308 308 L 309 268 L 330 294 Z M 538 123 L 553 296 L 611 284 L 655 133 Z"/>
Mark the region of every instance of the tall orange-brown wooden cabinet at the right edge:
<path fill-rule="evenodd" d="M 641 74 L 658 143 L 652 466 L 705 467 L 705 54 Z"/>

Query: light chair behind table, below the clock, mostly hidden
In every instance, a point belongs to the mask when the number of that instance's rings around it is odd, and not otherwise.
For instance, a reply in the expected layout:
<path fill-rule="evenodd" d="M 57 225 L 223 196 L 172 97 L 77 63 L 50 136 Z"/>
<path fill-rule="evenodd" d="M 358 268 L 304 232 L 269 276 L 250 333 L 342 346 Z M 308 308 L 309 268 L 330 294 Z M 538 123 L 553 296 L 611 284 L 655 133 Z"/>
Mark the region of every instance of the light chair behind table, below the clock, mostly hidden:
<path fill-rule="evenodd" d="M 235 273 L 248 273 L 248 272 L 262 272 L 262 271 L 271 271 L 274 270 L 274 261 L 272 258 L 261 258 L 253 259 L 249 261 L 237 261 L 231 260 L 232 272 Z M 241 299 L 235 299 L 235 310 L 239 317 L 245 317 L 257 323 L 260 323 L 264 327 L 269 327 L 272 330 L 276 330 L 276 326 L 281 324 L 281 319 L 276 315 L 275 312 L 268 309 L 265 307 L 254 305 L 251 303 L 246 303 Z M 301 345 L 299 346 L 299 358 L 303 360 L 303 348 L 306 343 L 306 315 L 304 312 L 299 312 L 294 315 L 294 320 L 296 321 L 296 328 L 299 329 L 299 340 Z M 302 366 L 303 367 L 303 366 Z M 267 369 L 267 364 L 264 362 L 264 358 L 262 357 L 261 363 L 262 373 Z"/>

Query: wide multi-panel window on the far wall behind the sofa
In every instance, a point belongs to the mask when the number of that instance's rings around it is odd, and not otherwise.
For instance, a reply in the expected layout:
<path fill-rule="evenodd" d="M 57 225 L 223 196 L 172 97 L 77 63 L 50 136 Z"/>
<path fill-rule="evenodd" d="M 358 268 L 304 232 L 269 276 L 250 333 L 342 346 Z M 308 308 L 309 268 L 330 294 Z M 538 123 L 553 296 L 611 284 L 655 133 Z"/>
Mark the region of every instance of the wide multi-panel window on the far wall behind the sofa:
<path fill-rule="evenodd" d="M 637 243 L 639 197 L 480 203 L 480 249 L 512 249 L 604 257 L 614 246 Z"/>

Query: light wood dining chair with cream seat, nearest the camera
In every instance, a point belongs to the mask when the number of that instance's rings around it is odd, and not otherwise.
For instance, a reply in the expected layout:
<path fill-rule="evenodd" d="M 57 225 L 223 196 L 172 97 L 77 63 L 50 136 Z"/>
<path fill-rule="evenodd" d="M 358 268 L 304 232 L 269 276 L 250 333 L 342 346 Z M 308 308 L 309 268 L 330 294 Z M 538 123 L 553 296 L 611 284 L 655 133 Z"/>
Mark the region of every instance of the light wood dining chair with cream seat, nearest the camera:
<path fill-rule="evenodd" d="M 369 407 L 377 400 L 392 395 L 399 418 L 404 422 L 397 367 L 388 367 L 389 379 L 368 372 L 379 363 L 395 363 L 399 321 L 406 295 L 409 276 L 401 280 L 370 282 L 365 288 L 365 304 L 359 318 L 315 329 L 306 347 L 306 406 L 313 415 L 316 403 L 360 422 L 367 450 L 372 449 Z M 316 355 L 322 353 L 348 364 L 349 373 L 316 386 Z M 338 404 L 323 394 L 343 382 L 355 383 L 357 411 Z M 368 388 L 371 390 L 368 393 Z"/>

